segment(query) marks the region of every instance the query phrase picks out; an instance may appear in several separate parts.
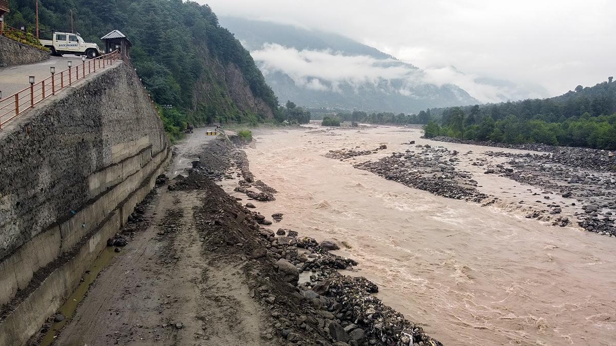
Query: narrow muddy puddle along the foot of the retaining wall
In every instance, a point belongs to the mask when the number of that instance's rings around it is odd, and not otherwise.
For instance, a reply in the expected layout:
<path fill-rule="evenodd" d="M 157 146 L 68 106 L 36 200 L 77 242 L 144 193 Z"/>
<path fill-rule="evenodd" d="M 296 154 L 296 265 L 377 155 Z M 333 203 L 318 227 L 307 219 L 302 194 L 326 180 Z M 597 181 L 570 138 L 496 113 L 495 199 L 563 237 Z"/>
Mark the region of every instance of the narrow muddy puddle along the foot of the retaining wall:
<path fill-rule="evenodd" d="M 41 346 L 49 346 L 54 342 L 57 337 L 57 333 L 64 328 L 64 325 L 68 322 L 68 320 L 70 320 L 70 317 L 73 316 L 73 313 L 77 310 L 77 306 L 81 303 L 81 300 L 83 300 L 86 296 L 90 284 L 93 283 L 99 273 L 110 264 L 111 259 L 121 253 L 115 252 L 114 249 L 115 247 L 113 246 L 105 247 L 99 257 L 92 262 L 89 272 L 83 275 L 83 281 L 79 283 L 77 289 L 75 289 L 73 294 L 68 297 L 67 301 L 58 310 L 58 313 L 62 313 L 62 315 L 66 316 L 66 318 L 60 322 L 55 322 L 52 324 L 49 331 L 47 331 L 43 337 Z"/>

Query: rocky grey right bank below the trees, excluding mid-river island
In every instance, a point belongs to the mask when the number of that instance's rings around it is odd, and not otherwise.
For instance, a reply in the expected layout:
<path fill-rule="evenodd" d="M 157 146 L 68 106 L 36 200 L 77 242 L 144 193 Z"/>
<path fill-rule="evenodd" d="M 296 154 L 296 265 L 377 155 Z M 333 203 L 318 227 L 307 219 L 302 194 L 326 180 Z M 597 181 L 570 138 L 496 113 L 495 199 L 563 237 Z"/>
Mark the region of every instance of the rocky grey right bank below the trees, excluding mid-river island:
<path fill-rule="evenodd" d="M 503 164 L 484 164 L 486 174 L 500 174 L 516 182 L 544 188 L 541 193 L 545 209 L 526 215 L 528 218 L 552 220 L 553 225 L 566 226 L 568 217 L 561 217 L 562 203 L 545 203 L 550 195 L 573 199 L 570 206 L 582 207 L 573 212 L 577 225 L 600 235 L 616 237 L 616 153 L 591 148 L 554 147 L 541 143 L 506 144 L 435 137 L 432 140 L 490 147 L 540 151 L 543 153 L 514 154 L 488 151 L 492 158 L 505 158 Z M 482 166 L 484 166 L 482 164 Z M 539 195 L 539 194 L 537 194 Z M 524 201 L 521 201 L 523 203 Z M 537 201 L 539 202 L 539 201 Z M 554 215 L 554 216 L 551 216 Z"/>

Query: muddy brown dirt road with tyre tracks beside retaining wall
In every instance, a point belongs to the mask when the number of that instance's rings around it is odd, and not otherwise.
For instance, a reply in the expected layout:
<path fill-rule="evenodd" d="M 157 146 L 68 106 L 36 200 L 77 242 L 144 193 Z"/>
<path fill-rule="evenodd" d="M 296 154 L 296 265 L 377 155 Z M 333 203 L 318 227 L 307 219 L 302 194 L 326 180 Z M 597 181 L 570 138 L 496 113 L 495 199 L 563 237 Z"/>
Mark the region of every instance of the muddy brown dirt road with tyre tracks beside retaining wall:
<path fill-rule="evenodd" d="M 207 196 L 160 188 L 149 226 L 99 275 L 55 345 L 267 344 L 246 257 L 206 251 L 195 226 Z"/>

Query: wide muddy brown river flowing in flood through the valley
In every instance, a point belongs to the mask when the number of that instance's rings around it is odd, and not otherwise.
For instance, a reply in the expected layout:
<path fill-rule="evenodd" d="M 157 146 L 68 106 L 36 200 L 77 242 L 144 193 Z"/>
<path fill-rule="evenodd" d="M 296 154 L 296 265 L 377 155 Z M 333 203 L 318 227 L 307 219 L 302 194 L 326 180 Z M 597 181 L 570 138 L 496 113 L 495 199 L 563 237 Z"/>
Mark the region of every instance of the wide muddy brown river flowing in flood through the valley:
<path fill-rule="evenodd" d="M 472 172 L 480 191 L 500 203 L 443 198 L 352 167 L 410 148 L 400 144 L 408 140 L 495 150 L 420 135 L 396 127 L 256 132 L 246 149 L 251 171 L 278 193 L 254 204 L 284 214 L 274 230 L 346 242 L 338 253 L 359 262 L 352 275 L 374 281 L 379 298 L 446 345 L 616 345 L 615 238 L 525 219 L 514 203 L 541 189 L 480 169 Z M 356 161 L 322 156 L 381 143 L 388 149 Z"/>

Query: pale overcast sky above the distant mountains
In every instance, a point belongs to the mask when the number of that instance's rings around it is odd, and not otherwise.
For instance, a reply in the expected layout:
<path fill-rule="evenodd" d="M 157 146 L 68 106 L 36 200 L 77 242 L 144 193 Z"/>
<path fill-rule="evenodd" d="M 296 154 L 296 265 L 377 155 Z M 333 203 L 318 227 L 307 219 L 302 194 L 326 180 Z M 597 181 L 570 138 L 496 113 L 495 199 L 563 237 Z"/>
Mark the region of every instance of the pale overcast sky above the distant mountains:
<path fill-rule="evenodd" d="M 219 16 L 332 31 L 419 68 L 455 66 L 472 77 L 538 84 L 550 95 L 616 75 L 614 0 L 198 2 Z"/>

